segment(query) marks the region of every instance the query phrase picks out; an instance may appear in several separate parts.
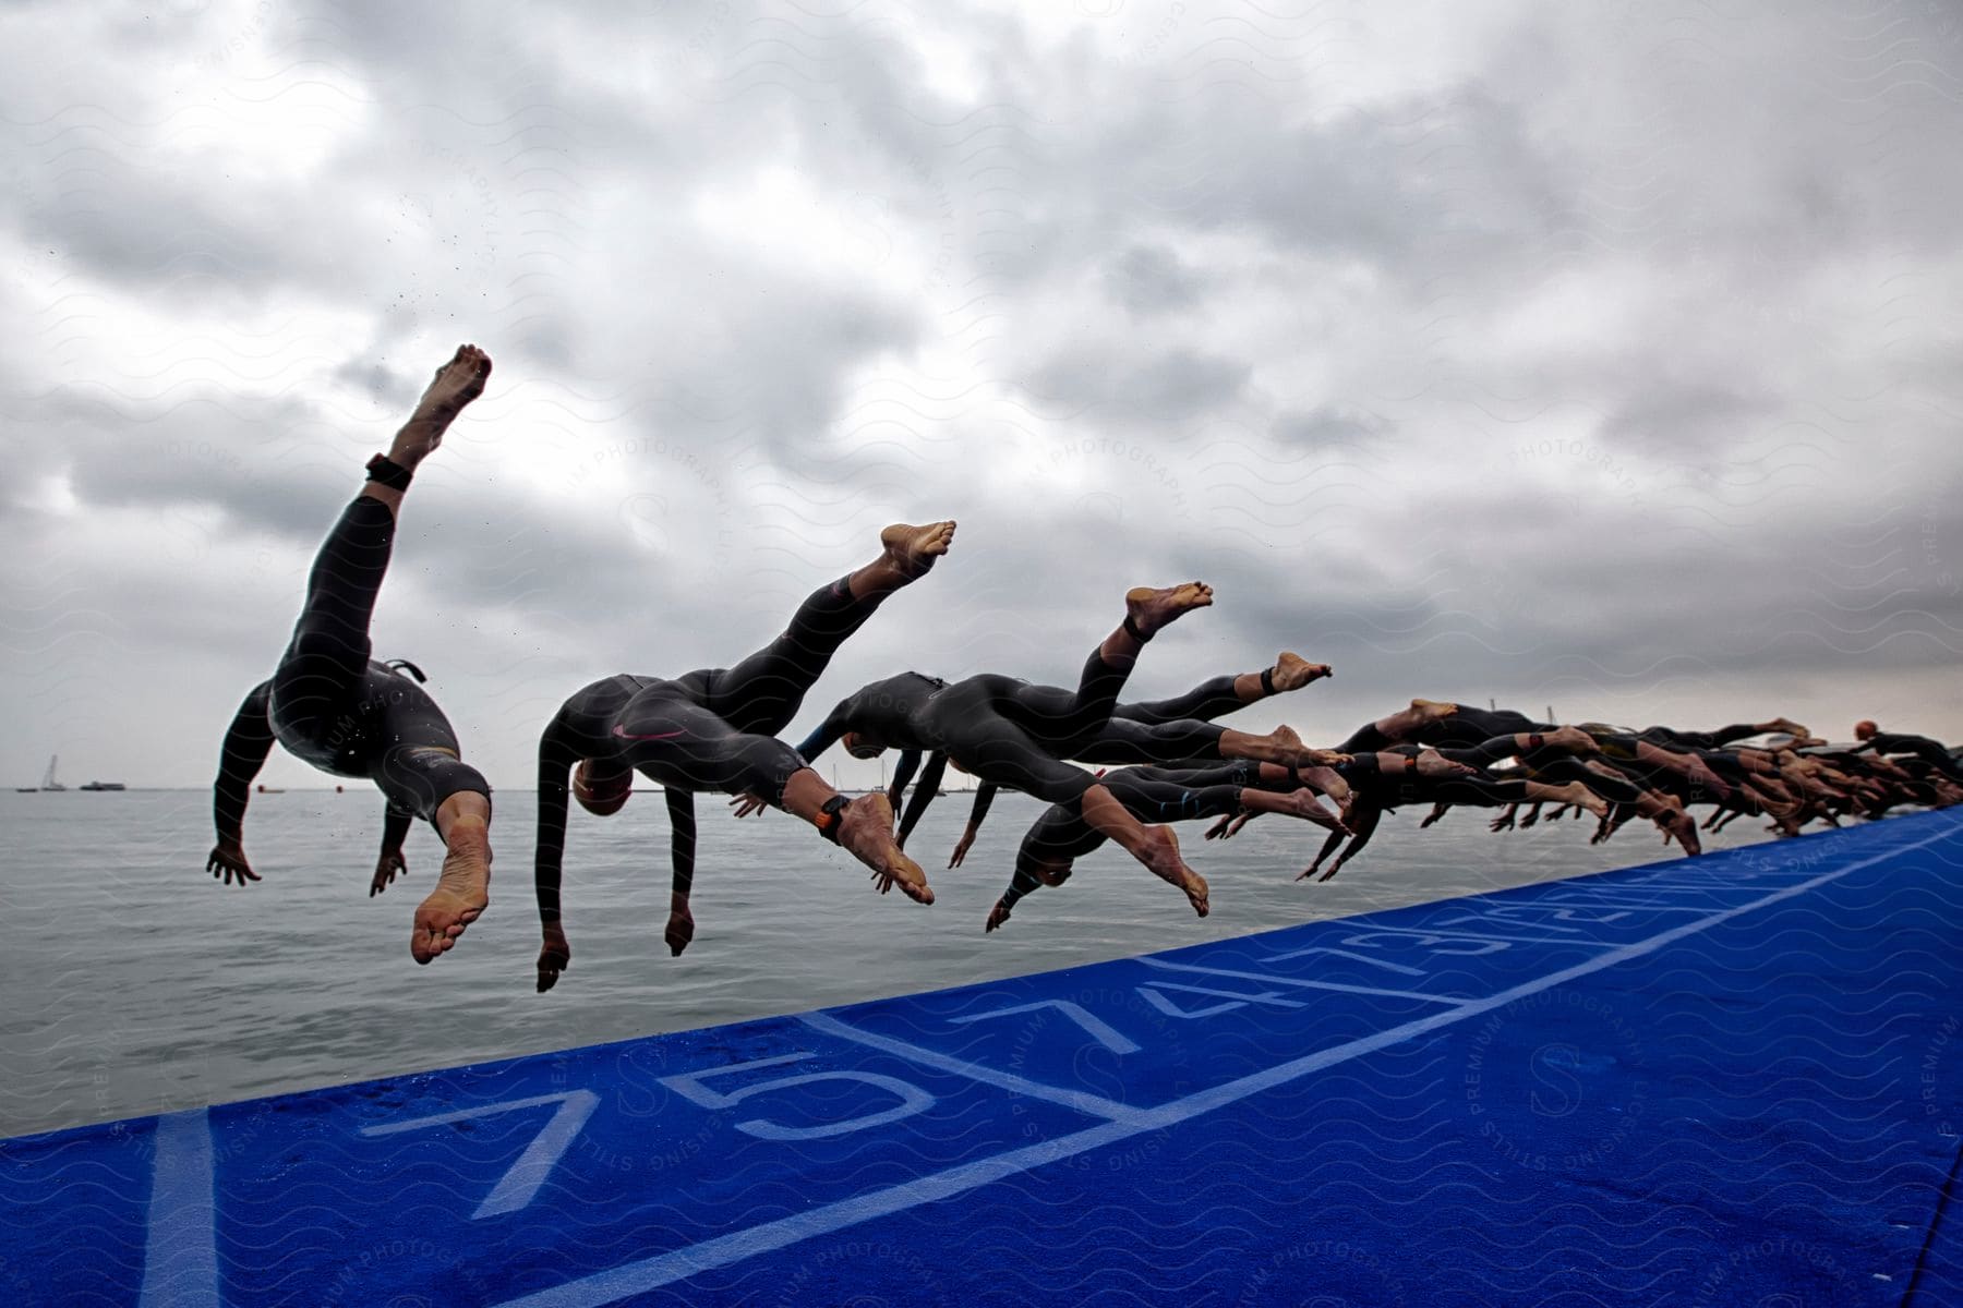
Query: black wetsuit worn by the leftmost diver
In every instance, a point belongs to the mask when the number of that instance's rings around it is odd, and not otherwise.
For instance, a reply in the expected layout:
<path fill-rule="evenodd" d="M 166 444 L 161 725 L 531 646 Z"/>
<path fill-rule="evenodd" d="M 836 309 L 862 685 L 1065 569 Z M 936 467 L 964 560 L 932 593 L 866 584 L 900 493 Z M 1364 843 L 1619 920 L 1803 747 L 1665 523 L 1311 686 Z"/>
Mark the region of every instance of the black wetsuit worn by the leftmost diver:
<path fill-rule="evenodd" d="M 389 800 L 383 849 L 400 847 L 410 818 L 436 820 L 451 794 L 491 794 L 483 775 L 457 759 L 457 733 L 436 700 L 391 665 L 369 657 L 369 620 L 389 571 L 395 512 L 355 496 L 306 579 L 306 604 L 271 680 L 239 704 L 226 731 L 214 784 L 220 843 L 238 843 L 251 779 L 277 739 L 336 777 L 367 777 Z"/>

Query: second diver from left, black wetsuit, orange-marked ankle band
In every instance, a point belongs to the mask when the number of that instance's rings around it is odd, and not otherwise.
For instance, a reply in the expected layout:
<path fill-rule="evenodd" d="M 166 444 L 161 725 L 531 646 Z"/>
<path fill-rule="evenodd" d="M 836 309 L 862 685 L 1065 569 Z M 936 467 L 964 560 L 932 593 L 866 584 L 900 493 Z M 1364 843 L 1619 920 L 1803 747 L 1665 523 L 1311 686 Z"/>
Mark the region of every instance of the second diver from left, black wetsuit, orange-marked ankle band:
<path fill-rule="evenodd" d="M 954 541 L 952 522 L 895 524 L 879 533 L 879 557 L 821 586 L 769 645 L 730 669 L 697 669 L 673 680 L 609 677 L 573 694 L 538 741 L 538 859 L 534 884 L 544 947 L 538 988 L 550 990 L 571 959 L 559 908 L 565 855 L 565 773 L 593 814 L 626 804 L 640 771 L 662 782 L 673 851 L 673 890 L 663 939 L 673 953 L 695 937 L 689 892 L 695 882 L 695 792 L 750 792 L 811 822 L 872 867 L 881 892 L 899 884 L 932 904 L 934 892 L 913 859 L 893 843 L 893 810 L 883 794 L 846 802 L 805 761 L 775 739 L 832 653 L 893 590 L 923 577 Z"/>

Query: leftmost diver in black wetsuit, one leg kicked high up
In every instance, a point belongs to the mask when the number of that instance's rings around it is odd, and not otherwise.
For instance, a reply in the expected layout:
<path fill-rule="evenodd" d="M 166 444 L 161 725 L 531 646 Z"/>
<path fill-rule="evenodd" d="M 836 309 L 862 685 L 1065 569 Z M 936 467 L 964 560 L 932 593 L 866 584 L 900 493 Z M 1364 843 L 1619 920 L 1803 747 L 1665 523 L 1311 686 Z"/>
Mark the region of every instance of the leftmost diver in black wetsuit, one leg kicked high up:
<path fill-rule="evenodd" d="M 436 371 L 387 455 L 369 461 L 369 482 L 328 533 L 306 579 L 306 604 L 279 669 L 245 696 L 226 731 L 212 820 L 218 843 L 206 871 L 226 884 L 259 880 L 245 861 L 243 824 L 251 779 L 273 741 L 336 777 L 367 777 L 389 800 L 383 853 L 369 894 L 402 865 L 412 818 L 430 822 L 448 855 L 436 890 L 416 908 L 408 951 L 442 955 L 489 904 L 491 786 L 457 757 L 457 735 L 422 686 L 369 657 L 369 618 L 395 520 L 410 475 L 442 443 L 463 406 L 483 394 L 491 359 L 457 347 Z M 420 673 L 416 673 L 420 680 Z"/>

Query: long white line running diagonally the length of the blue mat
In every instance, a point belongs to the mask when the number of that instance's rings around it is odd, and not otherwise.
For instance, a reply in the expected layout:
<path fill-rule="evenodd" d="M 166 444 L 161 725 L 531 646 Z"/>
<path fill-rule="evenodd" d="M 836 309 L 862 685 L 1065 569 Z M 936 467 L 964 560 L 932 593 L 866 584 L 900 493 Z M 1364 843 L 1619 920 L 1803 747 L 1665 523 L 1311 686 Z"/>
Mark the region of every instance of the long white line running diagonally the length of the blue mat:
<path fill-rule="evenodd" d="M 1146 1110 L 1133 1114 L 1127 1122 L 1109 1122 L 1105 1126 L 1093 1126 L 1084 1132 L 1074 1132 L 1070 1135 L 1058 1135 L 1056 1139 L 1046 1139 L 1036 1145 L 1027 1145 L 1023 1149 L 1011 1149 L 1009 1153 L 999 1153 L 991 1159 L 980 1159 L 974 1163 L 962 1163 L 946 1171 L 930 1173 L 927 1177 L 915 1177 L 913 1181 L 901 1181 L 899 1184 L 881 1186 L 877 1190 L 868 1190 L 866 1194 L 856 1194 L 852 1198 L 836 1200 L 830 1204 L 821 1204 L 807 1212 L 777 1218 L 775 1222 L 764 1222 L 752 1226 L 744 1232 L 732 1232 L 728 1235 L 716 1235 L 715 1239 L 705 1239 L 701 1243 L 685 1245 L 669 1253 L 658 1253 L 654 1257 L 640 1259 L 636 1263 L 626 1263 L 610 1271 L 595 1273 L 591 1277 L 581 1277 L 579 1281 L 567 1281 L 565 1284 L 552 1286 L 548 1290 L 538 1290 L 534 1294 L 524 1294 L 520 1298 L 510 1298 L 497 1308 L 597 1308 L 599 1304 L 610 1304 L 630 1294 L 646 1294 L 648 1290 L 660 1288 L 663 1284 L 673 1284 L 675 1281 L 685 1281 L 703 1271 L 715 1267 L 728 1267 L 730 1263 L 740 1263 L 742 1259 L 756 1257 L 760 1253 L 769 1253 L 773 1249 L 783 1249 L 801 1239 L 811 1239 L 815 1235 L 828 1235 L 832 1232 L 844 1230 L 848 1226 L 858 1226 L 874 1218 L 883 1218 L 895 1212 L 905 1212 L 909 1208 L 919 1208 L 921 1204 L 930 1204 L 934 1200 L 950 1198 L 954 1194 L 964 1194 L 968 1190 L 980 1188 L 993 1181 L 1003 1181 L 1007 1177 L 1017 1177 L 1031 1169 L 1042 1167 L 1046 1163 L 1056 1163 L 1060 1159 L 1076 1157 L 1089 1149 L 1099 1149 L 1131 1135 L 1139 1135 L 1150 1130 L 1162 1130 L 1188 1118 L 1197 1118 L 1203 1112 L 1213 1112 L 1233 1104 L 1235 1100 L 1248 1098 L 1262 1090 L 1272 1090 L 1290 1081 L 1307 1077 L 1311 1073 L 1325 1071 L 1337 1063 L 1347 1063 L 1351 1059 L 1362 1057 L 1366 1053 L 1376 1053 L 1388 1045 L 1402 1043 L 1413 1035 L 1423 1035 L 1445 1026 L 1455 1026 L 1476 1018 L 1480 1014 L 1492 1012 L 1494 1008 L 1504 1008 L 1513 1000 L 1539 994 L 1563 982 L 1598 973 L 1616 963 L 1627 963 L 1629 959 L 1639 959 L 1643 955 L 1655 953 L 1665 945 L 1671 945 L 1686 935 L 1696 935 L 1706 931 L 1720 922 L 1729 922 L 1747 912 L 1755 912 L 1769 904 L 1788 900 L 1796 894 L 1816 890 L 1830 880 L 1839 880 L 1849 873 L 1857 873 L 1863 867 L 1873 867 L 1886 859 L 1908 853 L 1910 849 L 1920 849 L 1922 845 L 1932 845 L 1939 839 L 1953 837 L 1955 828 L 1945 828 L 1936 831 L 1928 839 L 1920 839 L 1912 845 L 1902 845 L 1898 849 L 1888 849 L 1871 859 L 1861 859 L 1859 863 L 1849 863 L 1831 873 L 1822 873 L 1812 880 L 1800 884 L 1784 886 L 1773 890 L 1771 894 L 1753 900 L 1751 904 L 1739 904 L 1737 908 L 1727 908 L 1720 914 L 1712 914 L 1700 922 L 1686 922 L 1684 926 L 1671 928 L 1659 935 L 1633 945 L 1623 945 L 1614 953 L 1604 953 L 1586 963 L 1574 967 L 1565 967 L 1559 973 L 1549 973 L 1537 981 L 1529 981 L 1513 986 L 1512 990 L 1502 990 L 1490 998 L 1468 1000 L 1451 1012 L 1431 1014 L 1427 1018 L 1417 1018 L 1402 1026 L 1390 1028 L 1388 1031 L 1378 1031 L 1376 1035 L 1364 1035 L 1362 1039 L 1353 1039 L 1345 1045 L 1335 1045 L 1323 1049 L 1321 1053 L 1311 1053 L 1290 1063 L 1282 1063 L 1264 1073 L 1254 1073 L 1239 1081 L 1229 1081 L 1227 1084 L 1215 1086 L 1211 1090 L 1201 1090 L 1190 1094 L 1182 1100 L 1174 1100 L 1164 1108 Z M 821 1016 L 821 1014 L 815 1014 Z M 807 1018 L 809 1020 L 809 1018 Z"/>

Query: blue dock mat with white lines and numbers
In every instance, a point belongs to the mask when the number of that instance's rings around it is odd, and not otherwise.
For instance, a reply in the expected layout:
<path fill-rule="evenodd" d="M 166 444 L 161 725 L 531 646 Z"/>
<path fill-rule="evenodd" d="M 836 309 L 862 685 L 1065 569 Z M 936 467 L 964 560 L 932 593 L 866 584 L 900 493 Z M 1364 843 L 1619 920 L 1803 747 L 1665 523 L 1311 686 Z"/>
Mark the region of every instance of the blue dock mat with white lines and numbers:
<path fill-rule="evenodd" d="M 0 1141 L 16 1304 L 1963 1302 L 1963 818 Z"/>

